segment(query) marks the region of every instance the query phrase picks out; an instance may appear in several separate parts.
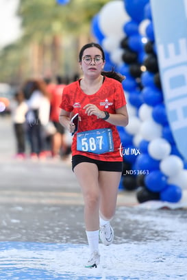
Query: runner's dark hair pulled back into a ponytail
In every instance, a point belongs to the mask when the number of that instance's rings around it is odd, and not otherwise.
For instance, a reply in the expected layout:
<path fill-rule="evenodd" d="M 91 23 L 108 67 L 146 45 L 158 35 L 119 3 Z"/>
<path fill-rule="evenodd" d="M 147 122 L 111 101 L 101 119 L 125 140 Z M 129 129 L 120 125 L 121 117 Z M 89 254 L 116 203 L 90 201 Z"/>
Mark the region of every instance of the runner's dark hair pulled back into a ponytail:
<path fill-rule="evenodd" d="M 82 55 L 83 55 L 84 51 L 88 48 L 91 48 L 91 47 L 96 47 L 97 49 L 99 49 L 102 53 L 103 61 L 105 60 L 105 53 L 103 51 L 103 48 L 100 46 L 100 44 L 97 44 L 95 42 L 90 42 L 88 44 L 84 44 L 84 46 L 80 50 L 80 52 L 79 52 L 79 62 L 82 61 Z M 112 78 L 112 79 L 116 79 L 117 81 L 120 81 L 120 82 L 122 82 L 125 79 L 125 77 L 123 75 L 115 72 L 114 68 L 112 68 L 112 71 L 102 71 L 101 75 Z"/>

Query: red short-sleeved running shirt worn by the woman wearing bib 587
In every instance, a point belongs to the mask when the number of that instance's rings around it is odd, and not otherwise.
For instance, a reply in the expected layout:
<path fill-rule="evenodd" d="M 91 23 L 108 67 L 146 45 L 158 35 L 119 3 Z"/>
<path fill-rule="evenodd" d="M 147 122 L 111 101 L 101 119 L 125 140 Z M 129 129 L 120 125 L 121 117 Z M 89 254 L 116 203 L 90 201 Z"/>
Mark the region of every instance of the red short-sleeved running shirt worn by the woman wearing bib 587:
<path fill-rule="evenodd" d="M 80 79 L 79 79 L 80 81 Z M 112 138 L 114 142 L 114 151 L 102 154 L 77 151 L 77 133 L 73 136 L 72 155 L 85 155 L 95 160 L 108 162 L 123 162 L 120 154 L 121 140 L 119 132 L 115 125 L 111 125 L 101 118 L 85 114 L 84 106 L 88 103 L 96 105 L 99 110 L 115 114 L 115 110 L 126 105 L 123 87 L 116 79 L 105 77 L 101 88 L 95 94 L 85 94 L 79 86 L 79 81 L 75 81 L 63 90 L 62 102 L 60 108 L 67 112 L 73 112 L 72 116 L 79 113 L 81 121 L 77 132 L 88 131 L 92 129 L 110 128 L 112 129 Z"/>

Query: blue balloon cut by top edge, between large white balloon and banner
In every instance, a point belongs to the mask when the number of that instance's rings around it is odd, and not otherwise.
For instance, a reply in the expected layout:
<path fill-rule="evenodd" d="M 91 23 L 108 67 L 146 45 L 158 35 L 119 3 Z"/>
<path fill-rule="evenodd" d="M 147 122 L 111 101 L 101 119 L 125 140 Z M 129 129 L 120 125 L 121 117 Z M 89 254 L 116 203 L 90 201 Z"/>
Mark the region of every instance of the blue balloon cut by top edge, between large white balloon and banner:
<path fill-rule="evenodd" d="M 134 21 L 140 23 L 144 19 L 144 8 L 149 0 L 124 0 L 125 10 Z"/>

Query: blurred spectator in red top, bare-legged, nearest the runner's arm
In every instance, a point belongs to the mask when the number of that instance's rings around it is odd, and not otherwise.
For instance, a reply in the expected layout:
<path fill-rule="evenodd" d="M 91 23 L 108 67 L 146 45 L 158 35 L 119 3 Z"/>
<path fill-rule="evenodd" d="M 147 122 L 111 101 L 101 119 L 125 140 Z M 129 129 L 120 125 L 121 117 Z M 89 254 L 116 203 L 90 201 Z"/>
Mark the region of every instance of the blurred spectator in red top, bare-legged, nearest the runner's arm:
<path fill-rule="evenodd" d="M 68 83 L 67 79 L 57 76 L 57 85 L 51 92 L 51 113 L 50 120 L 53 122 L 56 132 L 51 139 L 51 153 L 52 157 L 58 158 L 60 156 L 66 157 L 71 152 L 71 148 L 66 143 L 66 131 L 59 123 L 60 103 L 62 101 L 62 92 L 64 86 Z"/>

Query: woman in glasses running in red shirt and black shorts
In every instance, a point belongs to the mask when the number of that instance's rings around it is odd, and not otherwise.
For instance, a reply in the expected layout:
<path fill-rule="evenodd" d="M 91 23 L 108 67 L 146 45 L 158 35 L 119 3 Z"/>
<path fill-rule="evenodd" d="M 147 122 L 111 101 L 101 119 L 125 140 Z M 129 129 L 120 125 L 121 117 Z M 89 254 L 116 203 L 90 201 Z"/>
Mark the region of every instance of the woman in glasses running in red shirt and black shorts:
<path fill-rule="evenodd" d="M 105 54 L 99 44 L 82 47 L 79 66 L 84 77 L 64 87 L 60 104 L 60 123 L 71 133 L 75 130 L 71 117 L 79 114 L 72 164 L 84 196 L 90 247 L 87 268 L 97 267 L 100 262 L 99 237 L 105 245 L 114 239 L 110 220 L 116 209 L 123 164 L 116 126 L 125 127 L 128 123 L 121 85 L 124 77 L 114 71 L 104 72 L 104 65 Z"/>

